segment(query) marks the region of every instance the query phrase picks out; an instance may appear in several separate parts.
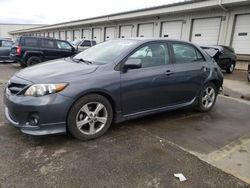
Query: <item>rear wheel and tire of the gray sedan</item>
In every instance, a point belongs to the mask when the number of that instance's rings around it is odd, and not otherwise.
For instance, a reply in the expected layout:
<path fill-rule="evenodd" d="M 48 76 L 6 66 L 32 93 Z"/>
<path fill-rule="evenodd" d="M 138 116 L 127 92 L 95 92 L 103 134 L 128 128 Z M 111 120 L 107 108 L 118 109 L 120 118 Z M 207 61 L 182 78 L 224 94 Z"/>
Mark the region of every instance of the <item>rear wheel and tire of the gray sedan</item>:
<path fill-rule="evenodd" d="M 217 88 L 213 83 L 207 83 L 200 91 L 198 98 L 197 110 L 200 112 L 208 112 L 216 102 Z"/>

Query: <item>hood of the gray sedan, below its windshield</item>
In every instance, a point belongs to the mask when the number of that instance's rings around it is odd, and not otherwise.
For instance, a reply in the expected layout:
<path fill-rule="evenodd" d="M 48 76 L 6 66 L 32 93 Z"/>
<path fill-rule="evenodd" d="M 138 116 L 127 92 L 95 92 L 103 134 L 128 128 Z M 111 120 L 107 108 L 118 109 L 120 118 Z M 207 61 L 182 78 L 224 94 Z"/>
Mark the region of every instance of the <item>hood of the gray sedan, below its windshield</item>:
<path fill-rule="evenodd" d="M 25 68 L 15 76 L 33 83 L 69 82 L 94 72 L 98 66 L 76 63 L 66 59 L 48 61 Z"/>

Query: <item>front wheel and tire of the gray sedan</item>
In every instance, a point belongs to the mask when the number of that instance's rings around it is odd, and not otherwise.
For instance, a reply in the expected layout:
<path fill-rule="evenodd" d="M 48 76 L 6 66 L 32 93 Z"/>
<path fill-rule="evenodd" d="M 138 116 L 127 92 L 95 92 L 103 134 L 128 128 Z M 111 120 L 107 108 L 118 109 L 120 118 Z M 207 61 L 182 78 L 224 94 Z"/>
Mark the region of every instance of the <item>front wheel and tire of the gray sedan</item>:
<path fill-rule="evenodd" d="M 80 98 L 71 108 L 67 126 L 69 132 L 79 140 L 90 140 L 103 135 L 113 120 L 109 101 L 97 94 Z"/>

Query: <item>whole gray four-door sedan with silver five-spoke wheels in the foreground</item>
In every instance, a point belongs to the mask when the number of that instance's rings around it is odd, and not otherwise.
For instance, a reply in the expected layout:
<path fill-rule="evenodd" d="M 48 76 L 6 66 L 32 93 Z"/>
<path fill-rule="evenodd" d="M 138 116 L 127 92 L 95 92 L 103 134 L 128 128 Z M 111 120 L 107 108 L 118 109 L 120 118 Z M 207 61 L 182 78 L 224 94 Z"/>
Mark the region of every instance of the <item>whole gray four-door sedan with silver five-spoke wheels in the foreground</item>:
<path fill-rule="evenodd" d="M 74 57 L 16 73 L 4 94 L 5 116 L 31 135 L 68 130 L 81 140 L 111 123 L 215 104 L 223 74 L 195 45 L 163 39 L 109 40 Z"/>

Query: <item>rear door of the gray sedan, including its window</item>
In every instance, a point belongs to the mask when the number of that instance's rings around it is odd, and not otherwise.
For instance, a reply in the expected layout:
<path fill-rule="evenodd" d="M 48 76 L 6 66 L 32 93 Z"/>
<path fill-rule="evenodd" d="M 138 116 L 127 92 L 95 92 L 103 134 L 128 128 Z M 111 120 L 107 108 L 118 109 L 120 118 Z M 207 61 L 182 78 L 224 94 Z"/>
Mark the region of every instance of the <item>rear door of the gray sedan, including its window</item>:
<path fill-rule="evenodd" d="M 175 104 L 195 99 L 209 75 L 209 66 L 201 52 L 192 44 L 171 42 L 175 67 Z"/>

